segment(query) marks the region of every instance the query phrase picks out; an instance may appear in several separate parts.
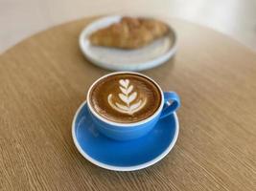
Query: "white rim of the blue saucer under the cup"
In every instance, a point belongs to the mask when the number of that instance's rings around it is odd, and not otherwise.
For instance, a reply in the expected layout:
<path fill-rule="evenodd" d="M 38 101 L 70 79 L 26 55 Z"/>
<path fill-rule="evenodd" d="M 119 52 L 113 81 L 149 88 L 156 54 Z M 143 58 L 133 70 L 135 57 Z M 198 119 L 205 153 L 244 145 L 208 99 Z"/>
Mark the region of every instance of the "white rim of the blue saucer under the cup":
<path fill-rule="evenodd" d="M 175 117 L 175 137 L 173 138 L 173 140 L 170 142 L 169 146 L 156 158 L 151 159 L 150 161 L 147 161 L 145 163 L 142 164 L 138 164 L 138 165 L 132 165 L 132 166 L 115 166 L 115 165 L 110 165 L 110 164 L 105 164 L 104 162 L 101 162 L 97 159 L 93 159 L 92 157 L 90 157 L 87 153 L 85 153 L 83 151 L 83 149 L 81 148 L 81 145 L 76 137 L 76 120 L 81 112 L 81 109 L 83 108 L 83 106 L 86 104 L 86 100 L 84 100 L 79 109 L 77 110 L 75 116 L 73 117 L 73 121 L 72 121 L 72 138 L 73 141 L 75 143 L 75 146 L 77 147 L 77 149 L 79 150 L 81 156 L 87 160 L 89 160 L 91 163 L 100 166 L 102 168 L 105 168 L 107 170 L 112 170 L 112 171 L 135 171 L 135 170 L 140 170 L 143 168 L 147 168 L 153 164 L 155 164 L 156 162 L 160 161 L 161 159 L 164 159 L 167 154 L 174 148 L 175 146 L 175 142 L 178 138 L 178 132 L 179 132 L 179 122 L 178 122 L 178 117 L 176 115 L 176 113 L 174 112 L 174 117 Z M 113 140 L 115 141 L 115 140 Z"/>

